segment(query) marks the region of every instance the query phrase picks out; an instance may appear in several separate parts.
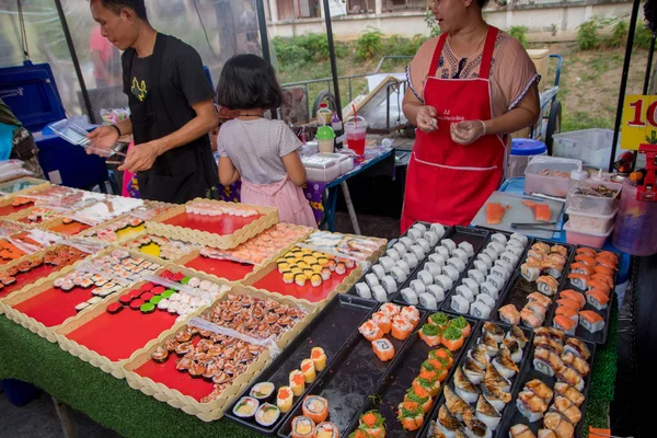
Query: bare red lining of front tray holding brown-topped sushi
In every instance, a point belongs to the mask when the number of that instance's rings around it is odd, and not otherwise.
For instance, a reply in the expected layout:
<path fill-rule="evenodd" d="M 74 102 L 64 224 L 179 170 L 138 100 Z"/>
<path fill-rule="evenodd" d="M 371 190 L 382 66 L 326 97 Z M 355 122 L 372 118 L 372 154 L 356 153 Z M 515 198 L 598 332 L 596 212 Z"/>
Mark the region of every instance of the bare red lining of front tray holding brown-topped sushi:
<path fill-rule="evenodd" d="M 199 338 L 196 336 L 194 345 L 196 345 L 198 341 Z M 204 378 L 194 379 L 187 371 L 178 371 L 175 368 L 177 358 L 178 356 L 175 354 L 170 355 L 164 364 L 158 364 L 154 360 L 149 359 L 141 367 L 137 368 L 135 372 L 139 376 L 148 377 L 158 383 L 163 383 L 166 387 L 177 390 L 182 394 L 189 395 L 200 402 L 204 396 L 212 392 L 215 384 Z"/>

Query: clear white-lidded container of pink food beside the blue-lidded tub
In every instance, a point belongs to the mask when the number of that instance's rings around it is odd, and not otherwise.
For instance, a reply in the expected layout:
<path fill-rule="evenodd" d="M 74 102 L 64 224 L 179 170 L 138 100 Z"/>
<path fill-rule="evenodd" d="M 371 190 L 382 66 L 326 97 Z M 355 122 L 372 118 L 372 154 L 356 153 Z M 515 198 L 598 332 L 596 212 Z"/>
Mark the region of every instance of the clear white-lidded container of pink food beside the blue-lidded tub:
<path fill-rule="evenodd" d="M 543 171 L 558 171 L 569 175 L 570 171 L 581 170 L 581 161 L 558 157 L 534 157 L 525 170 L 525 193 L 542 193 L 565 198 L 568 194 L 569 176 L 542 175 Z"/>

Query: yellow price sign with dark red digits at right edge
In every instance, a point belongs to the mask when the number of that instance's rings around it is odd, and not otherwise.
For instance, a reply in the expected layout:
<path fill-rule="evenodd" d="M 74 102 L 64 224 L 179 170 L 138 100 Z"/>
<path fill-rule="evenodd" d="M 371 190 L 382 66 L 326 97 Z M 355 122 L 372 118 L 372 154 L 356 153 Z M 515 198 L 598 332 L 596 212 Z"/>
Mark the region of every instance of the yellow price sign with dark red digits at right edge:
<path fill-rule="evenodd" d="M 626 95 L 621 126 L 622 149 L 637 150 L 642 143 L 657 145 L 657 95 Z"/>

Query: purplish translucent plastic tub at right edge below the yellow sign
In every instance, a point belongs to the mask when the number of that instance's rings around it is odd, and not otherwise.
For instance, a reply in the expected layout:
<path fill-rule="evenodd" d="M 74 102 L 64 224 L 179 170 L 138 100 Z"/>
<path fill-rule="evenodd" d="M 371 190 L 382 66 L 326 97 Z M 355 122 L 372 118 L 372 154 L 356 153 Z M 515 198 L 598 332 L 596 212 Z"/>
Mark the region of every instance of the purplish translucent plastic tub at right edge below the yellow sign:
<path fill-rule="evenodd" d="M 636 185 L 625 180 L 613 231 L 613 245 L 632 255 L 657 253 L 657 203 L 636 199 Z"/>

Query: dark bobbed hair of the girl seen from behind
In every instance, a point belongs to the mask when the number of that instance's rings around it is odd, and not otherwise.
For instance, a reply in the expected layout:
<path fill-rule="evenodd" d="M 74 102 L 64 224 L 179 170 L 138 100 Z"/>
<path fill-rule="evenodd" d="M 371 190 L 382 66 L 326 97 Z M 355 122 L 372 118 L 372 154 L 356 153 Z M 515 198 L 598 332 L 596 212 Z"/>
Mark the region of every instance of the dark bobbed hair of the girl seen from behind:
<path fill-rule="evenodd" d="M 231 110 L 276 108 L 283 103 L 283 90 L 263 58 L 235 55 L 221 70 L 217 103 Z"/>

